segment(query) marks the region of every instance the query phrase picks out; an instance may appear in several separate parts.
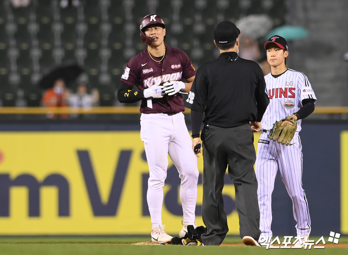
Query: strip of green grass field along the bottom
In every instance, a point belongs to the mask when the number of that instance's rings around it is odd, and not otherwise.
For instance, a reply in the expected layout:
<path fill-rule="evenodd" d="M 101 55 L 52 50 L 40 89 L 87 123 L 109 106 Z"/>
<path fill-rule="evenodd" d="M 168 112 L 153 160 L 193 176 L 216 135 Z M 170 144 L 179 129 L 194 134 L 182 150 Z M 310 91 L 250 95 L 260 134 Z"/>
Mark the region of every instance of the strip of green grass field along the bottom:
<path fill-rule="evenodd" d="M 313 237 L 318 240 L 319 237 Z M 327 240 L 327 238 L 325 238 Z M 324 249 L 269 249 L 250 246 L 177 246 L 132 245 L 149 241 L 148 237 L 0 237 L 0 255 L 202 255 L 202 254 L 348 254 L 348 248 L 325 247 Z M 282 241 L 282 240 L 281 240 Z M 239 237 L 226 237 L 223 244 L 242 244 Z M 341 237 L 339 244 L 348 244 L 348 237 Z"/>

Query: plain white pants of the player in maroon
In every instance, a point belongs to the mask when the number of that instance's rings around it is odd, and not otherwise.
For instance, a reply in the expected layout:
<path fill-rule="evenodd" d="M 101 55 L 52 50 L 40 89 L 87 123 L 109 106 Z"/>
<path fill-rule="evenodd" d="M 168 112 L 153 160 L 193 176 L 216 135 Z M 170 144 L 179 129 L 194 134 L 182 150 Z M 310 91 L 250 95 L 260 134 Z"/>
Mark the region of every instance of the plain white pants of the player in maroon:
<path fill-rule="evenodd" d="M 147 201 L 153 225 L 162 223 L 163 186 L 167 177 L 168 154 L 181 179 L 180 199 L 184 222 L 195 221 L 198 168 L 184 114 L 141 114 L 140 137 L 149 164 Z"/>

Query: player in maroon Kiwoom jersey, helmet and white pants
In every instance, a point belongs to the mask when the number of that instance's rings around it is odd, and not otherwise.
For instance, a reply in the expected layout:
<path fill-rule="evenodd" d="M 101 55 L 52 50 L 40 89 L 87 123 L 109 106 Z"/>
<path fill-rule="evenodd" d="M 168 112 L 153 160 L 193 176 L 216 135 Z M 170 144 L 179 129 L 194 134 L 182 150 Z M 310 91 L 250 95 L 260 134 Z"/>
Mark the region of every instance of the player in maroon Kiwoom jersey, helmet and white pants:
<path fill-rule="evenodd" d="M 143 18 L 140 36 L 148 47 L 127 63 L 117 93 L 121 103 L 141 100 L 140 137 L 150 170 L 147 201 L 152 222 L 151 239 L 160 244 L 172 239 L 165 233 L 161 219 L 168 154 L 181 178 L 183 228 L 180 237 L 187 232 L 187 225 L 195 225 L 199 174 L 180 94 L 180 91 L 190 91 L 196 71 L 182 50 L 165 46 L 165 35 L 166 27 L 161 17 L 151 14 Z M 132 90 L 134 85 L 140 92 Z"/>

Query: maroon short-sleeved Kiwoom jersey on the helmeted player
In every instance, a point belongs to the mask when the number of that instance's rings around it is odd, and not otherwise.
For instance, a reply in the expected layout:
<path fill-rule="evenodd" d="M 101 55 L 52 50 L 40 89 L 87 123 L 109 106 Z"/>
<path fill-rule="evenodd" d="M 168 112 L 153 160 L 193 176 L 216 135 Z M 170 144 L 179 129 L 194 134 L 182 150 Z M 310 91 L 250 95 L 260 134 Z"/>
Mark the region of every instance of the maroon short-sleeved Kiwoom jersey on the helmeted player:
<path fill-rule="evenodd" d="M 159 60 L 153 57 L 155 60 Z M 166 46 L 163 61 L 155 62 L 149 55 L 148 49 L 131 58 L 122 74 L 121 81 L 144 90 L 155 85 L 158 81 L 165 83 L 183 81 L 196 75 L 195 68 L 184 51 Z M 142 99 L 140 112 L 142 113 L 178 113 L 185 110 L 184 101 L 180 93 L 162 98 L 152 98 L 152 108 L 147 106 L 147 99 Z"/>

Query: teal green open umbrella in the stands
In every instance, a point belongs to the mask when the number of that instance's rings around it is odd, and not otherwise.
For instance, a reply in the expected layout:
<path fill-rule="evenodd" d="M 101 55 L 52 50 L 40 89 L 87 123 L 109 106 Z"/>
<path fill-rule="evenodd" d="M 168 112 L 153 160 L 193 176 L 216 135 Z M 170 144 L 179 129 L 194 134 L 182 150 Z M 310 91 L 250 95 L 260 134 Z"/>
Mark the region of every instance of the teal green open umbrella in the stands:
<path fill-rule="evenodd" d="M 301 26 L 284 25 L 272 29 L 267 35 L 266 40 L 273 35 L 280 35 L 287 41 L 301 39 L 308 36 L 308 31 Z"/>

